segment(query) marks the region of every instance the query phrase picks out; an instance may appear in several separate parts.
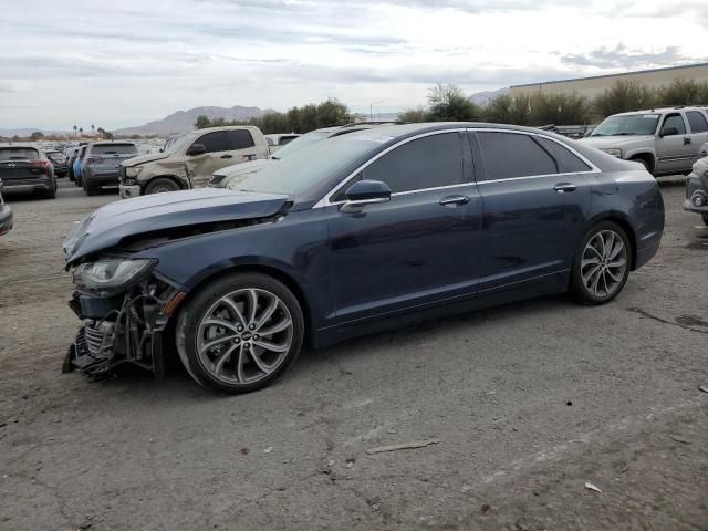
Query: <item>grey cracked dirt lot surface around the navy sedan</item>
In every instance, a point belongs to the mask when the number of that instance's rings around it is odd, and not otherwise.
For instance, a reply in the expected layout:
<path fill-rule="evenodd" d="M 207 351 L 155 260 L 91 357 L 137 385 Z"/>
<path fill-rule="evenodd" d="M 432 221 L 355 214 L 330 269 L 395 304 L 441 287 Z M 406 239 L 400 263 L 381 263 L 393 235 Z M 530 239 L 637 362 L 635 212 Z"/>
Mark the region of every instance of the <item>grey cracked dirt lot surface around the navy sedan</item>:
<path fill-rule="evenodd" d="M 240 397 L 178 369 L 61 374 L 77 325 L 61 241 L 116 196 L 10 198 L 0 529 L 708 530 L 708 229 L 663 191 L 662 250 L 611 305 L 367 337 Z"/>

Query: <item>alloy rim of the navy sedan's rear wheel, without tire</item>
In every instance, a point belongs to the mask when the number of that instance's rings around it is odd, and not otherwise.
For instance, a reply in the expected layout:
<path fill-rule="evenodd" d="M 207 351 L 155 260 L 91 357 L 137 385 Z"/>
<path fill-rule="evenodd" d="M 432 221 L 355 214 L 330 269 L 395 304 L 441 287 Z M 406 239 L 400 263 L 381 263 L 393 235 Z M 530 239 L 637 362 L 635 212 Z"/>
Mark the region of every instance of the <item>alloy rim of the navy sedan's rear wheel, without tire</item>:
<path fill-rule="evenodd" d="M 581 258 L 583 285 L 593 296 L 607 299 L 622 287 L 627 269 L 627 249 L 613 230 L 596 232 Z"/>

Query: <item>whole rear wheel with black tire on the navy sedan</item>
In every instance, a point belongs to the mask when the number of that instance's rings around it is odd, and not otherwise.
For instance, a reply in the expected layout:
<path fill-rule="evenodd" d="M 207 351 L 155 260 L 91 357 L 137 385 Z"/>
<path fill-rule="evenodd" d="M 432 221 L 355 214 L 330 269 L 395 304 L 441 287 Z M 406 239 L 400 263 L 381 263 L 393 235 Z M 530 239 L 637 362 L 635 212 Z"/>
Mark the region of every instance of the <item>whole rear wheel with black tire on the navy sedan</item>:
<path fill-rule="evenodd" d="M 624 288 L 629 275 L 632 243 L 617 223 L 602 221 L 590 229 L 575 253 L 571 293 L 584 304 L 604 304 Z"/>

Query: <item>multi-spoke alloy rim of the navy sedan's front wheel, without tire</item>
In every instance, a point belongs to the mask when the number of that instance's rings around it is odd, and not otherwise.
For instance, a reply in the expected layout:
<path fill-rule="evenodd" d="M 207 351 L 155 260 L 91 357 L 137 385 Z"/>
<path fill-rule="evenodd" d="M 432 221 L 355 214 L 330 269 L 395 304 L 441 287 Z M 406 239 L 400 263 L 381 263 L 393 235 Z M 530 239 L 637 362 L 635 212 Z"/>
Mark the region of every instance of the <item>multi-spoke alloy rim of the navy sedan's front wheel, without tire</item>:
<path fill-rule="evenodd" d="M 273 373 L 293 342 L 285 303 L 262 289 L 231 292 L 205 312 L 197 327 L 201 366 L 227 384 L 252 384 Z"/>

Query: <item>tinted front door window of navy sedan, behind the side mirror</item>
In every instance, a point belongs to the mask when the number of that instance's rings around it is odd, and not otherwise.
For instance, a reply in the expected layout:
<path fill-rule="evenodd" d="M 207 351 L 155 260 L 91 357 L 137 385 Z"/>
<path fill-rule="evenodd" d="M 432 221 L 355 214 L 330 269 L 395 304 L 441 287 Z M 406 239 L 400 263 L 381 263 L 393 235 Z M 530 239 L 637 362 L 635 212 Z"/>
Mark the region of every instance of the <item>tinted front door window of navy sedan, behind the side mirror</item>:
<path fill-rule="evenodd" d="M 392 192 L 457 185 L 462 180 L 462 148 L 457 133 L 412 140 L 364 169 L 364 179 L 383 180 Z"/>

